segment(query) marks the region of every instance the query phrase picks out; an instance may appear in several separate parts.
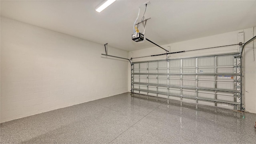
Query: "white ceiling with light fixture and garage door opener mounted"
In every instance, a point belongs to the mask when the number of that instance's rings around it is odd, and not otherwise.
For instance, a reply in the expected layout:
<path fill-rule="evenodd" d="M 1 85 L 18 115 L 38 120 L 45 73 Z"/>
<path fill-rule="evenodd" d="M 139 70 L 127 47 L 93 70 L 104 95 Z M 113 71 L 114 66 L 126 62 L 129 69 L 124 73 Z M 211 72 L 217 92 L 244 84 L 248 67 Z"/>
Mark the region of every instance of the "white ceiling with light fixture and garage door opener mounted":
<path fill-rule="evenodd" d="M 1 0 L 1 16 L 126 51 L 154 47 L 132 41 L 133 23 L 148 0 L 117 0 L 98 13 L 102 0 Z M 146 37 L 170 44 L 256 26 L 256 1 L 150 0 Z M 139 21 L 138 20 L 138 21 Z M 140 26 L 140 31 L 142 31 Z"/>

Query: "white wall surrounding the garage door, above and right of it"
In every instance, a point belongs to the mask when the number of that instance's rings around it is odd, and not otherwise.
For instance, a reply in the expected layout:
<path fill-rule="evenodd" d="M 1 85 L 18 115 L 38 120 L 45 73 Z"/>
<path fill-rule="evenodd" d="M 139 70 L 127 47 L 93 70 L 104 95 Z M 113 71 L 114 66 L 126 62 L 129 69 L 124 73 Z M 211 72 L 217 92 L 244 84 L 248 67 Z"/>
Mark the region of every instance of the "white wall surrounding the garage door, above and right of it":
<path fill-rule="evenodd" d="M 194 49 L 200 49 L 200 48 L 238 44 L 241 41 L 241 40 L 238 40 L 240 39 L 240 37 L 238 37 L 238 33 L 244 32 L 244 42 L 246 42 L 253 37 L 253 29 L 254 29 L 254 36 L 255 36 L 256 27 L 248 28 L 244 30 L 237 30 L 234 32 L 228 32 L 224 34 L 218 34 L 214 36 L 197 38 L 193 40 L 187 40 L 183 42 L 167 44 L 162 47 L 169 50 L 168 46 L 170 46 L 170 52 L 178 52 L 183 50 L 187 51 L 187 50 L 194 50 Z M 152 41 L 155 42 L 154 40 Z M 256 42 L 254 42 L 254 47 L 256 47 Z M 231 53 L 231 52 L 238 52 L 238 51 L 239 51 L 239 46 L 228 46 L 228 47 L 214 48 L 214 49 L 208 49 L 208 50 L 198 50 L 198 51 L 192 51 L 192 52 L 171 54 L 169 56 L 170 58 L 177 58 L 177 57 L 186 57 L 186 56 Z M 162 50 L 161 48 L 152 47 L 152 48 L 146 48 L 143 50 L 136 50 L 136 51 L 129 52 L 129 58 L 131 57 L 135 58 L 133 59 L 133 62 L 144 61 L 144 60 L 165 59 L 166 55 L 136 58 L 141 56 L 149 56 L 149 55 L 162 54 L 162 53 L 165 53 L 165 51 Z M 256 52 L 254 52 L 254 54 L 256 55 Z M 246 90 L 244 96 L 245 96 L 245 109 L 248 112 L 256 113 L 256 56 L 254 57 L 255 57 L 255 61 L 253 60 L 253 50 L 252 50 L 252 43 L 251 43 L 248 46 L 246 46 L 244 51 L 244 62 L 245 62 L 244 64 L 245 79 L 244 80 L 245 80 L 245 90 Z M 130 73 L 128 74 L 128 76 L 130 80 Z M 130 81 L 129 81 L 129 84 L 130 84 Z M 131 86 L 129 85 L 129 90 L 130 90 L 130 87 Z"/>

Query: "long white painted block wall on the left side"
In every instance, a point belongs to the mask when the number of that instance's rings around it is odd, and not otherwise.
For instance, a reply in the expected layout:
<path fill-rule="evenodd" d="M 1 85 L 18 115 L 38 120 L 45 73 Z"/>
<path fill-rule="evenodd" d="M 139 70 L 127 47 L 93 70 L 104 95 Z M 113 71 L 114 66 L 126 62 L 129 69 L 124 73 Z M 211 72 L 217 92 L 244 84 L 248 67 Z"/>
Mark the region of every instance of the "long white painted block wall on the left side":
<path fill-rule="evenodd" d="M 101 53 L 102 44 L 1 17 L 0 122 L 127 92 L 128 61 Z"/>

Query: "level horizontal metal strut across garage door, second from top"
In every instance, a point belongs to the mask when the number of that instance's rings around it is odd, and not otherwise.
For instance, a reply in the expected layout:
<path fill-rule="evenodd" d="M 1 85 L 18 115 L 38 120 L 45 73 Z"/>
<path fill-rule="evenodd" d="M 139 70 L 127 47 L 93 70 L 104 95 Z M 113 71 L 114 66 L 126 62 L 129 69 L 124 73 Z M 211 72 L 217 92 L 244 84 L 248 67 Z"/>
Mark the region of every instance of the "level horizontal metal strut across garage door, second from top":
<path fill-rule="evenodd" d="M 132 73 L 136 75 L 240 76 L 239 73 Z"/>

